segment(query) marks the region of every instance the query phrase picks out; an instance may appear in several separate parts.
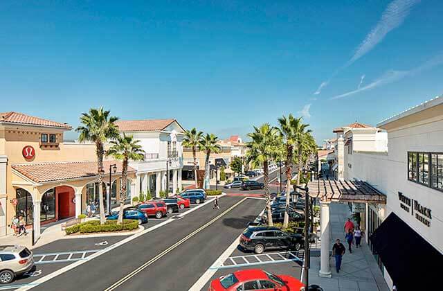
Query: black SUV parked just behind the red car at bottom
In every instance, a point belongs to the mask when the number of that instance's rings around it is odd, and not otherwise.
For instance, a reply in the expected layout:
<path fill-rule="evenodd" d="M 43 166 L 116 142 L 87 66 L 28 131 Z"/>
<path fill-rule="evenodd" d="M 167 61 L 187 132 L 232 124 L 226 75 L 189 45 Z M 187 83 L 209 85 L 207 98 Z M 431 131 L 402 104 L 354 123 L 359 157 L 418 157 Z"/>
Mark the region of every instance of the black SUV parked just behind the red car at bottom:
<path fill-rule="evenodd" d="M 248 227 L 240 237 L 240 246 L 255 254 L 267 249 L 300 249 L 305 243 L 300 233 L 286 233 L 277 227 Z"/>

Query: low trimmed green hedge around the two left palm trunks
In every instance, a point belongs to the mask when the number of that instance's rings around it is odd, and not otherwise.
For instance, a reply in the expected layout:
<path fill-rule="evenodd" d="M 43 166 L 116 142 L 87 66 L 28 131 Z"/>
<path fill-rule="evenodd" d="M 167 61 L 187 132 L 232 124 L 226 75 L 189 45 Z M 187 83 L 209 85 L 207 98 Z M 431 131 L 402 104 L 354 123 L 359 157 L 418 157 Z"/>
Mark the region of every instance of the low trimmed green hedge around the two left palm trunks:
<path fill-rule="evenodd" d="M 100 224 L 99 220 L 91 220 L 72 227 L 66 227 L 66 234 L 71 233 L 91 233 L 109 231 L 130 231 L 138 229 L 138 220 L 123 220 L 123 224 L 117 224 L 117 220 L 107 220 L 105 224 Z"/>

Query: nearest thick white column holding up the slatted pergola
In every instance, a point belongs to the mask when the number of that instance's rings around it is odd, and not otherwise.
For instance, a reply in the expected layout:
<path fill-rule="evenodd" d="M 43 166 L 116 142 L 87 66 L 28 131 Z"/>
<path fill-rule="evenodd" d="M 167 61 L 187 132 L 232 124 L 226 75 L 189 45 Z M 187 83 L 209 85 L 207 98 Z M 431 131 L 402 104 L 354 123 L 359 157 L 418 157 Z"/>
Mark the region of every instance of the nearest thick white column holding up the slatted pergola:
<path fill-rule="evenodd" d="M 331 278 L 331 266 L 329 265 L 329 235 L 331 233 L 331 224 L 329 223 L 329 204 L 330 202 L 320 201 L 320 271 L 318 276 Z"/>

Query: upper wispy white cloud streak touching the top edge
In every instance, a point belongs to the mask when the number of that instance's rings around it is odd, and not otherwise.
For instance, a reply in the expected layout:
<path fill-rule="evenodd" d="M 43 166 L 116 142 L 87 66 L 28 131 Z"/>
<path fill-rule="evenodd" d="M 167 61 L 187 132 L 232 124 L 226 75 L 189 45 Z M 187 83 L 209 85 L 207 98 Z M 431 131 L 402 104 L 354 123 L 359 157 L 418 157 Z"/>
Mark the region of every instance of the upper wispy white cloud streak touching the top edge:
<path fill-rule="evenodd" d="M 392 1 L 383 11 L 381 19 L 377 22 L 377 25 L 372 28 L 368 35 L 366 35 L 352 58 L 345 64 L 345 67 L 349 66 L 356 60 L 359 60 L 359 58 L 372 50 L 374 46 L 377 46 L 377 44 L 379 44 L 379 42 L 381 42 L 392 29 L 399 27 L 409 15 L 410 8 L 417 3 L 419 3 L 419 0 Z"/>

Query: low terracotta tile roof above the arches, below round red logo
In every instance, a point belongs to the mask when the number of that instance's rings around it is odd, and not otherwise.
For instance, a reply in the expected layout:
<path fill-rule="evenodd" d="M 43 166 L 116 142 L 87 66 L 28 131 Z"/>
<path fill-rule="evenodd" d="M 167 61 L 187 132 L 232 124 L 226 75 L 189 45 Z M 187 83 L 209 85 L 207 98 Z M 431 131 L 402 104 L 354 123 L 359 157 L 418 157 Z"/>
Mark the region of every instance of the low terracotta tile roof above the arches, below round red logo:
<path fill-rule="evenodd" d="M 116 173 L 122 172 L 121 161 L 103 161 L 105 174 L 109 170 L 111 164 L 116 164 Z M 12 165 L 12 169 L 17 170 L 37 183 L 61 181 L 69 179 L 95 177 L 97 175 L 96 161 L 60 161 L 48 162 L 39 164 L 16 164 Z M 128 172 L 135 172 L 131 167 L 128 167 Z"/>

